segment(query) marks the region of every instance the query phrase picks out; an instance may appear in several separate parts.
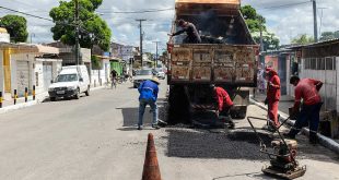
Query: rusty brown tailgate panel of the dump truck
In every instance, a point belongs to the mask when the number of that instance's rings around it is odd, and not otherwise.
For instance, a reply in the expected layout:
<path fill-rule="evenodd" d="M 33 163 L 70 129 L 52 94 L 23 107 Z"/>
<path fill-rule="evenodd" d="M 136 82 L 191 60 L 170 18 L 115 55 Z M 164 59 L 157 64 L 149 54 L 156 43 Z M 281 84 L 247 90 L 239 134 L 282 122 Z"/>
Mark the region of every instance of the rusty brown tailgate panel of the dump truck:
<path fill-rule="evenodd" d="M 255 86 L 257 45 L 174 45 L 170 84 Z"/>

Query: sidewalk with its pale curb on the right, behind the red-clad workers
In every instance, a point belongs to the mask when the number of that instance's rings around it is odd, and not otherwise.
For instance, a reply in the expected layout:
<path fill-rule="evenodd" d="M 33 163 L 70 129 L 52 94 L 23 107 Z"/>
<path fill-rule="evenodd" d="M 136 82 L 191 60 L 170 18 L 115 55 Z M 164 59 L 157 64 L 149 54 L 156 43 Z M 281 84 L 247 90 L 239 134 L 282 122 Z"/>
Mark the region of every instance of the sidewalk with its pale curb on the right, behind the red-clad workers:
<path fill-rule="evenodd" d="M 255 97 L 250 95 L 250 103 L 257 105 L 258 107 L 267 110 L 267 106 L 264 105 L 264 100 L 266 98 L 266 95 L 264 94 L 256 94 Z M 290 96 L 282 96 L 281 100 L 279 101 L 279 115 L 280 115 L 280 121 L 284 121 L 289 118 L 289 107 L 293 106 L 293 98 Z M 289 120 L 287 121 L 289 125 L 294 125 L 295 120 Z M 305 135 L 308 135 L 309 129 L 303 128 L 302 133 Z M 339 143 L 338 140 L 329 139 L 320 133 L 317 134 L 319 144 L 323 146 L 336 152 L 339 154 Z M 337 142 L 336 142 L 337 141 Z"/>

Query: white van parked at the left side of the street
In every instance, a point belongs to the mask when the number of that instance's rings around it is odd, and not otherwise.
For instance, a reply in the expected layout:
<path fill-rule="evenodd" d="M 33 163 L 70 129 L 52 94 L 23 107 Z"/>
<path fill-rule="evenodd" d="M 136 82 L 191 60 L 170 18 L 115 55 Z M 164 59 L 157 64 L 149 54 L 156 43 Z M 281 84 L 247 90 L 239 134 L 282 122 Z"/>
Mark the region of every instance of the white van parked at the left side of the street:
<path fill-rule="evenodd" d="M 48 88 L 49 98 L 55 101 L 58 97 L 80 98 L 81 93 L 90 96 L 90 76 L 85 65 L 62 67 L 57 79 Z"/>

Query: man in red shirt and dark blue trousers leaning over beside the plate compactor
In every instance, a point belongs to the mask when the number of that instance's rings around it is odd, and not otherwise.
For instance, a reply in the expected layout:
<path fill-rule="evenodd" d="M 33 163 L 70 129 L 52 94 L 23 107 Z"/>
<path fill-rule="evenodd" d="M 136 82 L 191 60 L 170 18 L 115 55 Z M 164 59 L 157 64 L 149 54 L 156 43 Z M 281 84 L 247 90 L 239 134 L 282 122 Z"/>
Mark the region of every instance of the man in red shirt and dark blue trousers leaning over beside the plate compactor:
<path fill-rule="evenodd" d="M 319 111 L 323 105 L 319 89 L 323 86 L 323 82 L 313 79 L 300 80 L 297 76 L 292 76 L 290 84 L 295 86 L 293 113 L 299 111 L 302 99 L 303 105 L 295 124 L 292 127 L 290 132 L 284 135 L 290 139 L 295 139 L 295 135 L 301 131 L 301 129 L 309 124 L 309 143 L 316 144 L 317 131 L 319 127 Z"/>

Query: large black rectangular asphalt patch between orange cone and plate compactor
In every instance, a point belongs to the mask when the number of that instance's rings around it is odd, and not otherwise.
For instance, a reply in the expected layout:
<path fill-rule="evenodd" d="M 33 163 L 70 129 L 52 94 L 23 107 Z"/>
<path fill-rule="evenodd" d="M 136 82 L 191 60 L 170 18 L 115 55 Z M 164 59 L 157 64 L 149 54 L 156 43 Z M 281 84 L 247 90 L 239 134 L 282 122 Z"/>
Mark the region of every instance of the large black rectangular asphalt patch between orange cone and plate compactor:
<path fill-rule="evenodd" d="M 182 158 L 229 158 L 265 160 L 259 153 L 259 142 L 249 130 L 211 133 L 208 130 L 167 130 L 167 156 Z M 272 139 L 260 133 L 266 143 Z"/>

